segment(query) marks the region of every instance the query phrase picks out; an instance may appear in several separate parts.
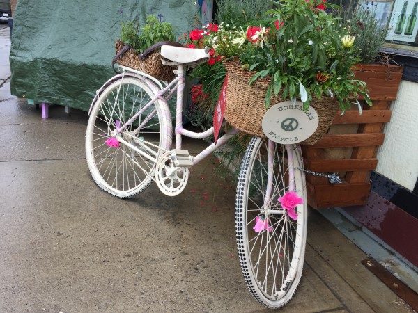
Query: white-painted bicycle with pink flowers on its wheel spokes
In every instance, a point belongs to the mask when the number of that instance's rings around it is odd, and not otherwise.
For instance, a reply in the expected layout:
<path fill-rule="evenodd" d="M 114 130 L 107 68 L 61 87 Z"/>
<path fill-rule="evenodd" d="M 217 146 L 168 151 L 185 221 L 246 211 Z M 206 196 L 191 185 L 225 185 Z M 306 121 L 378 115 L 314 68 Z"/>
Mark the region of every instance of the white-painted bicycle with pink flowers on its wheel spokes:
<path fill-rule="evenodd" d="M 196 156 L 182 149 L 182 136 L 207 138 L 213 127 L 196 133 L 183 128 L 185 72 L 208 61 L 205 49 L 162 45 L 166 65 L 176 77 L 165 83 L 119 66 L 122 72 L 97 91 L 89 110 L 86 159 L 95 182 L 104 191 L 128 198 L 153 181 L 170 196 L 181 193 L 189 168 L 221 147 L 232 129 Z M 167 101 L 176 92 L 175 149 Z M 287 191 L 306 199 L 302 153 L 298 145 L 279 145 L 253 137 L 242 159 L 235 200 L 238 255 L 251 294 L 266 307 L 291 300 L 302 276 L 307 236 L 307 204 L 297 205 L 297 219 L 289 218 L 277 201 Z M 258 224 L 258 230 L 254 223 Z M 260 228 L 261 227 L 261 228 Z"/>

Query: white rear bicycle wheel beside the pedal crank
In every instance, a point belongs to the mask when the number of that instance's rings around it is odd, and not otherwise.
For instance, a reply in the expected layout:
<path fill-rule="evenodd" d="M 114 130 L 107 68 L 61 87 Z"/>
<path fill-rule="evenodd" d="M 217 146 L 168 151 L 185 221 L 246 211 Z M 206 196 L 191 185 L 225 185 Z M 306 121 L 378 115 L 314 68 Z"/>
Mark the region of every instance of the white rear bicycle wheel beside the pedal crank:
<path fill-rule="evenodd" d="M 124 77 L 107 86 L 93 104 L 86 130 L 88 169 L 98 186 L 116 197 L 144 191 L 158 158 L 170 148 L 171 115 L 160 99 L 147 106 L 154 97 L 146 82 Z"/>

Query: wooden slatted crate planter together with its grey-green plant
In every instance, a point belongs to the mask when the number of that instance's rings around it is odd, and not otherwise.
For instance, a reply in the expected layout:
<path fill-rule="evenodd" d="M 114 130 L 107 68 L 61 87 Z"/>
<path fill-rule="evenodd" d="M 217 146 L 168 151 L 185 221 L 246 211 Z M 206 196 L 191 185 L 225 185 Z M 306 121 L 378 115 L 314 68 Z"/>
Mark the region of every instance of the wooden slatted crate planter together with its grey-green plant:
<path fill-rule="evenodd" d="M 369 177 L 377 166 L 377 150 L 385 136 L 382 131 L 389 122 L 389 107 L 402 77 L 402 67 L 390 65 L 389 58 L 380 54 L 387 28 L 376 19 L 373 9 L 360 6 L 343 27 L 355 36 L 353 47 L 359 63 L 352 69 L 357 79 L 366 82 L 373 106 L 365 106 L 362 115 L 336 113 L 326 141 L 303 147 L 305 168 L 337 172 L 343 182 L 332 185 L 325 177 L 307 175 L 309 204 L 314 208 L 366 204 Z"/>

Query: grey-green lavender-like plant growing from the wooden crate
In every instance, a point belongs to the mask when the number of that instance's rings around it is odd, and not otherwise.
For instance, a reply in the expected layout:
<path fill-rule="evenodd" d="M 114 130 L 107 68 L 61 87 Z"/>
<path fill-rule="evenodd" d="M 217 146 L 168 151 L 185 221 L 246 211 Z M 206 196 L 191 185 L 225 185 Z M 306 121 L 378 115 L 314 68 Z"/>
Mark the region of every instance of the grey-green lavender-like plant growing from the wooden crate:
<path fill-rule="evenodd" d="M 355 36 L 354 48 L 361 63 L 373 63 L 385 42 L 387 26 L 382 26 L 376 18 L 376 11 L 360 7 L 347 21 L 351 34 Z M 387 25 L 387 23 L 385 23 Z"/>

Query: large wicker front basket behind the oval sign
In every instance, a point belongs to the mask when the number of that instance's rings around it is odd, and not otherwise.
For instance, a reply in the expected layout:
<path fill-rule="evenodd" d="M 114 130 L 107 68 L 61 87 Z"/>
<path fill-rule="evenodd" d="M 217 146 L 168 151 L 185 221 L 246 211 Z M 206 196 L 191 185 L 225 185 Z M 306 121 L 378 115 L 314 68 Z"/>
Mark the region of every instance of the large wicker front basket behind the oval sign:
<path fill-rule="evenodd" d="M 235 128 L 245 131 L 247 134 L 265 137 L 261 122 L 267 109 L 264 106 L 265 93 L 270 83 L 270 78 L 257 79 L 248 86 L 249 79 L 255 72 L 242 70 L 236 61 L 224 62 L 228 72 L 228 88 L 226 89 L 226 108 L 224 118 Z M 273 104 L 283 102 L 279 96 L 272 95 Z M 331 122 L 338 111 L 338 101 L 331 97 L 314 99 L 311 106 L 318 113 L 319 125 L 315 133 L 304 145 L 314 145 L 327 132 Z"/>

